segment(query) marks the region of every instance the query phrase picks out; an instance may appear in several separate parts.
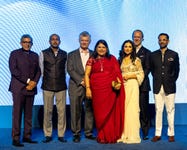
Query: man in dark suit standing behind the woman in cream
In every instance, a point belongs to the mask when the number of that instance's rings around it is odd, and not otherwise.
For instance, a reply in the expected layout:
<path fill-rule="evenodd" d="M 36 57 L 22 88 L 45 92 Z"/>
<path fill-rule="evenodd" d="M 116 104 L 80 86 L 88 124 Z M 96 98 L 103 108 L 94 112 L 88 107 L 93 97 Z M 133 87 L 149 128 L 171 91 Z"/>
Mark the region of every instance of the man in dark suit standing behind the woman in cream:
<path fill-rule="evenodd" d="M 148 140 L 148 131 L 150 127 L 150 117 L 149 117 L 149 73 L 150 73 L 150 50 L 142 45 L 144 40 L 144 35 L 141 30 L 135 30 L 132 34 L 132 39 L 136 47 L 136 54 L 141 59 L 142 67 L 144 70 L 144 80 L 140 86 L 139 95 L 139 106 L 140 106 L 140 124 L 143 133 L 143 140 Z"/>

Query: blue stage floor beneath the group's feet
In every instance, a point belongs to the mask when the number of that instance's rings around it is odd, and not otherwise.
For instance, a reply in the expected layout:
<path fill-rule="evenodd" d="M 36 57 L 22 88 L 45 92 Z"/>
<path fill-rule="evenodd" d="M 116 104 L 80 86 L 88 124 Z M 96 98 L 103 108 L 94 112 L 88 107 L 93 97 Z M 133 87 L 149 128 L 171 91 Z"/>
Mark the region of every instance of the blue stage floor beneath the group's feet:
<path fill-rule="evenodd" d="M 187 126 L 175 126 L 176 142 L 169 143 L 167 139 L 167 126 L 163 128 L 162 139 L 156 143 L 151 142 L 154 136 L 154 127 L 150 128 L 149 140 L 141 141 L 140 144 L 99 144 L 96 141 L 84 138 L 82 132 L 81 142 L 74 143 L 72 141 L 72 133 L 68 129 L 65 134 L 67 143 L 60 143 L 57 140 L 56 129 L 53 132 L 53 141 L 50 143 L 42 143 L 44 138 L 42 129 L 33 129 L 33 140 L 37 140 L 38 144 L 25 143 L 23 148 L 12 146 L 11 129 L 0 129 L 0 150 L 187 150 Z M 96 131 L 95 131 L 96 133 Z"/>

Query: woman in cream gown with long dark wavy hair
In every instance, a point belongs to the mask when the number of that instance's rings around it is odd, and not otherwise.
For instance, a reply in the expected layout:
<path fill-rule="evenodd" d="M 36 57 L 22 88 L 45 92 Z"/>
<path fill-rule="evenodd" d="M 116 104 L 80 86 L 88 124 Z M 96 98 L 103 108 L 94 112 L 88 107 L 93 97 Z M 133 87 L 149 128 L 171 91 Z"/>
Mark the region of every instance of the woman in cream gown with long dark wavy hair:
<path fill-rule="evenodd" d="M 139 86 L 144 79 L 144 72 L 141 60 L 136 57 L 135 47 L 131 40 L 122 44 L 119 61 L 126 98 L 124 130 L 118 142 L 140 143 Z"/>

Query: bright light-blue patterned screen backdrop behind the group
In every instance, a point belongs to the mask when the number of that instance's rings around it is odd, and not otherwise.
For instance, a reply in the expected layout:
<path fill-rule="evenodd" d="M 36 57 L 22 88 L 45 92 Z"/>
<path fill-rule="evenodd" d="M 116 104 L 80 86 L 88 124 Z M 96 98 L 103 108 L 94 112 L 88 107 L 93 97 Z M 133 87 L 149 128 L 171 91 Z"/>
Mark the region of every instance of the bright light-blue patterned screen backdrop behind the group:
<path fill-rule="evenodd" d="M 0 24 L 0 106 L 12 105 L 8 59 L 12 50 L 20 48 L 22 34 L 33 37 L 32 50 L 39 54 L 49 47 L 49 36 L 53 33 L 60 35 L 63 50 L 78 48 L 79 33 L 86 30 L 92 35 L 91 49 L 97 40 L 105 39 L 111 54 L 118 57 L 123 41 L 131 39 L 135 29 L 144 32 L 143 45 L 151 51 L 159 48 L 159 33 L 169 34 L 169 48 L 180 57 L 176 103 L 187 103 L 186 0 L 1 0 Z M 43 104 L 40 86 L 41 81 L 35 105 Z M 154 103 L 152 91 L 150 103 Z"/>

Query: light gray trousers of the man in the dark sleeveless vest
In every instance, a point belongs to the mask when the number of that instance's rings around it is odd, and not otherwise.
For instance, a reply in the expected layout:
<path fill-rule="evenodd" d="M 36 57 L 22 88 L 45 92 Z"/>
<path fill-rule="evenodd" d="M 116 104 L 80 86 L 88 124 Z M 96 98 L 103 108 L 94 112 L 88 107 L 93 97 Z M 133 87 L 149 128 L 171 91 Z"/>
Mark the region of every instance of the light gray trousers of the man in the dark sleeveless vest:
<path fill-rule="evenodd" d="M 66 130 L 66 90 L 53 92 L 43 90 L 44 98 L 44 122 L 43 130 L 45 136 L 52 136 L 52 114 L 54 98 L 58 113 L 58 137 L 64 137 Z"/>

